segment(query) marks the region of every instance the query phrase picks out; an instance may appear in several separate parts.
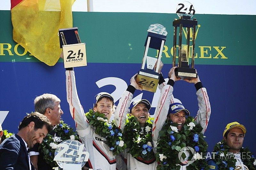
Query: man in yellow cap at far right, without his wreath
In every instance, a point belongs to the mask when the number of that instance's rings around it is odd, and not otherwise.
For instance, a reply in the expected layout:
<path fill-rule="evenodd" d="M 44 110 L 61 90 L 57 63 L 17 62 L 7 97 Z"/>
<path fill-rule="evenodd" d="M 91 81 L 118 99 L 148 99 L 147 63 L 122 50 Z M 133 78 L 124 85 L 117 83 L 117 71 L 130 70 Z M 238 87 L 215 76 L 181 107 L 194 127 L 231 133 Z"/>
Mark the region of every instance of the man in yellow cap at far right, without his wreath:
<path fill-rule="evenodd" d="M 224 129 L 223 132 L 223 140 L 225 141 L 224 145 L 228 145 L 229 147 L 229 157 L 232 159 L 236 159 L 236 165 L 240 165 L 240 168 L 243 170 L 246 170 L 243 160 L 243 156 L 245 156 L 245 153 L 241 154 L 241 148 L 244 142 L 244 136 L 246 133 L 246 129 L 244 125 L 238 123 L 238 122 L 231 122 L 228 123 L 226 128 Z M 220 157 L 220 154 L 215 154 L 215 159 L 216 157 Z M 219 170 L 219 166 L 216 164 L 215 159 L 209 159 L 208 160 L 208 165 L 210 169 L 215 169 Z M 229 167 L 230 165 L 227 165 Z"/>

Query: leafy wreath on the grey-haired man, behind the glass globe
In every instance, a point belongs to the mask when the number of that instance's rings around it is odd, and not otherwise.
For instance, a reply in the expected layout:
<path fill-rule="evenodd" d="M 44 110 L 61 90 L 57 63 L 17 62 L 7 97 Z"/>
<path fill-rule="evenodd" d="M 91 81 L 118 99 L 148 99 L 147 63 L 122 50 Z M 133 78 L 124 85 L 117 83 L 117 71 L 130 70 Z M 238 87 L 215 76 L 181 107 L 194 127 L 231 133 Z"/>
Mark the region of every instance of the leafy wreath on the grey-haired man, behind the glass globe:
<path fill-rule="evenodd" d="M 60 121 L 60 124 L 57 124 L 56 127 L 53 129 L 54 133 L 58 134 L 58 137 L 61 137 L 61 140 L 68 140 L 68 139 L 74 139 L 79 140 L 78 135 L 76 131 L 74 131 L 73 128 L 70 128 L 64 121 Z M 74 136 L 72 136 L 74 135 Z M 53 144 L 58 144 L 53 140 L 53 136 L 49 133 L 46 135 L 46 137 L 43 139 L 43 142 L 39 145 L 39 152 L 42 152 L 44 154 L 44 160 L 47 164 L 50 164 L 51 167 L 58 167 L 58 164 L 56 161 L 54 161 L 55 157 L 55 150 L 56 148 L 52 148 Z"/>

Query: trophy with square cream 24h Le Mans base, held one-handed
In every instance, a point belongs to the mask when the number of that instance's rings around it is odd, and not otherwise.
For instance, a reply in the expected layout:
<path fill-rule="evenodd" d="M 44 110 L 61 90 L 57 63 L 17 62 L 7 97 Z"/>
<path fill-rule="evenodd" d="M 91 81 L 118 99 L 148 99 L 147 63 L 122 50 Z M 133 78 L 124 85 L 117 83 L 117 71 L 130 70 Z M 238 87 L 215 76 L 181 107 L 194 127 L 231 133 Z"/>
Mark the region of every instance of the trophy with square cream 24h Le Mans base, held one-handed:
<path fill-rule="evenodd" d="M 86 66 L 85 43 L 81 43 L 77 27 L 59 29 L 59 37 L 64 68 Z"/>

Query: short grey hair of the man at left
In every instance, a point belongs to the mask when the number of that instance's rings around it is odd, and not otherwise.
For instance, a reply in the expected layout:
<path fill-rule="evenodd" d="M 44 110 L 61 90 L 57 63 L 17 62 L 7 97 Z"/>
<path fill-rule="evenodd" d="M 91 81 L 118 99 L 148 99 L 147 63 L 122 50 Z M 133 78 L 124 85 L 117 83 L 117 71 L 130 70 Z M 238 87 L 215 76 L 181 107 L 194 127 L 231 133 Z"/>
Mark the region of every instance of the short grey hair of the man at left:
<path fill-rule="evenodd" d="M 54 109 L 55 102 L 60 102 L 60 99 L 54 94 L 45 93 L 41 96 L 37 96 L 34 100 L 35 112 L 39 112 L 44 115 L 46 108 Z"/>

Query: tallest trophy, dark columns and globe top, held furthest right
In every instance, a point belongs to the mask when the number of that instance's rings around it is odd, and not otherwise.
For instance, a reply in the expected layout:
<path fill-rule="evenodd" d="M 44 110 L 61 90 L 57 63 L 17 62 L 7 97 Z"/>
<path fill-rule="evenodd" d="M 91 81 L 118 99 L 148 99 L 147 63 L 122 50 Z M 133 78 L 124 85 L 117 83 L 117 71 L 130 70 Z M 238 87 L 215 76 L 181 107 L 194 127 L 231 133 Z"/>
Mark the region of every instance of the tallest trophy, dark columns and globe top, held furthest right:
<path fill-rule="evenodd" d="M 180 7 L 179 7 L 180 6 Z M 179 9 L 178 9 L 179 7 Z M 173 67 L 176 66 L 176 48 L 177 48 L 177 27 L 179 30 L 179 54 L 178 54 L 178 67 L 174 70 L 175 75 L 182 79 L 194 79 L 197 78 L 195 65 L 195 37 L 197 20 L 191 19 L 195 14 L 195 10 L 192 4 L 185 1 L 183 4 L 177 6 L 177 14 L 180 19 L 174 19 L 172 26 L 174 26 L 173 35 Z M 182 28 L 187 28 L 187 44 L 182 44 Z M 192 29 L 192 56 L 191 56 L 191 68 L 189 68 L 189 48 L 190 48 L 190 28 Z"/>

